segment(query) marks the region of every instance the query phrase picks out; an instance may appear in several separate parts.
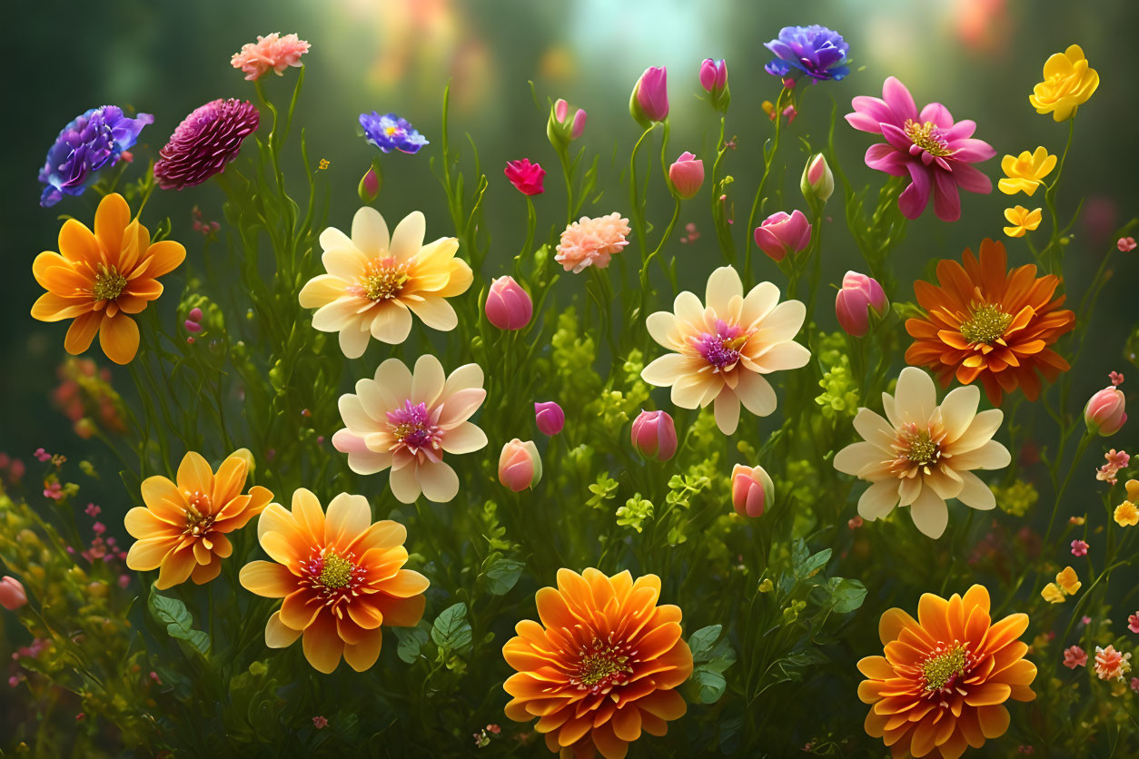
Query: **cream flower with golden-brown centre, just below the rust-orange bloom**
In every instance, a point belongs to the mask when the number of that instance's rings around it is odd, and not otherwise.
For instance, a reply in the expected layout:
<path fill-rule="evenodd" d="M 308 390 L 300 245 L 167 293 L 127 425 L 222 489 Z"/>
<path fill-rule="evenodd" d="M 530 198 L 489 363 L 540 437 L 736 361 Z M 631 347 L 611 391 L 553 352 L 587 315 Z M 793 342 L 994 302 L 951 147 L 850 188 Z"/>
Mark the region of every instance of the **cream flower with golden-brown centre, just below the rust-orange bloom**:
<path fill-rule="evenodd" d="M 871 484 L 859 498 L 859 514 L 874 521 L 895 505 L 910 506 L 917 528 L 936 538 L 949 521 L 949 498 L 993 509 L 992 490 L 972 470 L 1001 469 L 1011 457 L 992 439 L 1003 413 L 977 413 L 980 401 L 981 391 L 969 385 L 952 390 L 939 406 L 929 374 L 907 366 L 894 395 L 882 394 L 886 419 L 860 409 L 854 429 L 863 442 L 835 455 L 835 469 Z"/>

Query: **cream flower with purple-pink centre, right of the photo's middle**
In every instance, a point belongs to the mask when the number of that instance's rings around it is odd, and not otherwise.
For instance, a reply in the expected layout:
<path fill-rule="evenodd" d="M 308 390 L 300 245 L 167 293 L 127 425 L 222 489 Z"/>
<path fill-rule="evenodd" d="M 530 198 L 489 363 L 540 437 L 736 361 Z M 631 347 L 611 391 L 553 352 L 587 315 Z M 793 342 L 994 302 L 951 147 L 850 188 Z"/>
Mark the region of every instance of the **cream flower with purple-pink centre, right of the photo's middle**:
<path fill-rule="evenodd" d="M 761 282 L 744 296 L 744 283 L 731 266 L 708 277 L 705 303 L 683 291 L 673 311 L 650 314 L 648 333 L 669 353 L 645 368 L 641 379 L 672 388 L 681 409 L 715 402 L 715 422 L 724 435 L 736 431 L 739 404 L 757 416 L 776 410 L 776 391 L 763 378 L 798 369 L 811 352 L 794 341 L 806 307 L 798 300 L 779 303 L 779 288 Z"/>

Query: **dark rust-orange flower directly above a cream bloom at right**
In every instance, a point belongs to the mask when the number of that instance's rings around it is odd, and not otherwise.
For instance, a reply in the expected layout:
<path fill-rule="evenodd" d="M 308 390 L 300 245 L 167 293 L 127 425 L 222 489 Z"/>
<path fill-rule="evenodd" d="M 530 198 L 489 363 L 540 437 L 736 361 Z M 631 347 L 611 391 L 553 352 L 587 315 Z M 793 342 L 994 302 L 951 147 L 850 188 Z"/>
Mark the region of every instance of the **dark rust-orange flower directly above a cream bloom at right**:
<path fill-rule="evenodd" d="M 1035 401 L 1036 370 L 1052 382 L 1070 369 L 1048 347 L 1075 324 L 1075 314 L 1059 310 L 1064 296 L 1052 298 L 1060 278 L 1036 277 L 1032 264 L 1007 271 L 1005 246 L 989 239 L 981 244 L 980 261 L 968 248 L 962 261 L 964 267 L 939 262 L 940 287 L 913 283 L 926 315 L 906 322 L 915 338 L 906 361 L 928 366 L 943 387 L 954 374 L 962 385 L 980 378 L 993 405 L 1017 386 Z"/>

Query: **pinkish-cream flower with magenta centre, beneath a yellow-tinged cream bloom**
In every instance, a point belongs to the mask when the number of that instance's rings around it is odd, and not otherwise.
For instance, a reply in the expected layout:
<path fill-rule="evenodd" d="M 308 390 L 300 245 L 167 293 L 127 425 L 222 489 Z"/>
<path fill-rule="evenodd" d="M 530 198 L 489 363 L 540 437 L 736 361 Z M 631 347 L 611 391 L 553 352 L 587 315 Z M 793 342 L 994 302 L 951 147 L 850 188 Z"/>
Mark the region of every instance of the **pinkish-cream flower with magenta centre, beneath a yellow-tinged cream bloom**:
<path fill-rule="evenodd" d="M 467 421 L 486 397 L 478 364 L 448 377 L 432 355 L 419 356 L 415 373 L 388 358 L 355 390 L 341 396 L 346 428 L 333 436 L 336 449 L 349 454 L 349 469 L 358 475 L 391 469 L 392 494 L 402 503 L 415 503 L 420 493 L 436 503 L 458 495 L 459 476 L 443 454 L 486 445 L 486 435 Z"/>

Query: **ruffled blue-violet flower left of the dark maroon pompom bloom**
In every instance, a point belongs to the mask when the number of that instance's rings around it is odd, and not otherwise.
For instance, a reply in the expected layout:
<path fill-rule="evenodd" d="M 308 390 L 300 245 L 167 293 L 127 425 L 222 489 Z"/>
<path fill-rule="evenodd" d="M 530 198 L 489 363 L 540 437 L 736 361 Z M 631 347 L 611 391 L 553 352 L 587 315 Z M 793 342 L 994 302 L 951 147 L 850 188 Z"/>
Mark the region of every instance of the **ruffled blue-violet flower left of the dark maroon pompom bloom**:
<path fill-rule="evenodd" d="M 83 195 L 95 181 L 95 172 L 118 163 L 123 150 L 138 140 L 139 132 L 154 123 L 150 114 L 128 118 L 118 106 L 91 108 L 59 132 L 56 143 L 40 171 L 47 184 L 40 196 L 44 208 L 59 203 L 65 195 Z"/>

